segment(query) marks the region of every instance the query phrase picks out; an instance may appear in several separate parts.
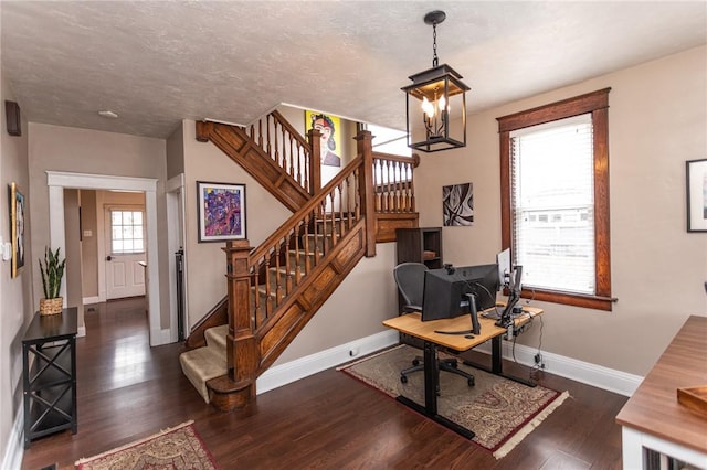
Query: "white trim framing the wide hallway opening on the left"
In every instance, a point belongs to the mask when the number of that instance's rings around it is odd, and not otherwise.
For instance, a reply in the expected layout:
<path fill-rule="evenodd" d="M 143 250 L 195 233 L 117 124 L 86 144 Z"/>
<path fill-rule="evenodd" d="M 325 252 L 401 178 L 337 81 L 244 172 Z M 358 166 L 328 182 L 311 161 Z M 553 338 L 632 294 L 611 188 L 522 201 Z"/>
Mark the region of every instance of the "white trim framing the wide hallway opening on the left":
<path fill-rule="evenodd" d="M 159 250 L 157 247 L 157 181 L 158 180 L 155 178 L 46 171 L 46 185 L 49 186 L 50 243 L 53 248 L 61 248 L 64 253 L 66 253 L 66 239 L 64 233 L 64 189 L 141 191 L 145 193 L 145 217 L 147 222 L 147 276 L 150 279 L 148 282 L 147 297 L 151 346 L 171 342 L 171 330 L 176 331 L 175 324 L 170 324 L 168 330 L 162 331 L 160 321 Z M 62 284 L 61 293 L 64 297 L 64 302 L 66 302 L 65 282 Z"/>

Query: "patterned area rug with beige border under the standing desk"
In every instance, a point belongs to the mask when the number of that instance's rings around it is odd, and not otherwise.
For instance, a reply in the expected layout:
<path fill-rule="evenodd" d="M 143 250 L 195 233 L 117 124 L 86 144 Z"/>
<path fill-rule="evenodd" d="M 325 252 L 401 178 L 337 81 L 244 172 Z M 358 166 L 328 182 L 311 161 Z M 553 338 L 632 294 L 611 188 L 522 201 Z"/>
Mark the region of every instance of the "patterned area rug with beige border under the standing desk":
<path fill-rule="evenodd" d="M 408 375 L 400 382 L 400 371 L 409 367 L 421 351 L 401 344 L 381 353 L 344 365 L 339 370 L 397 397 L 403 395 L 424 405 L 422 372 Z M 440 353 L 441 357 L 445 355 Z M 460 368 L 474 375 L 475 386 L 456 374 L 440 374 L 437 413 L 476 434 L 475 444 L 500 459 L 516 447 L 532 429 L 569 396 L 540 385 L 529 387 L 517 382 L 467 366 L 460 360 Z"/>

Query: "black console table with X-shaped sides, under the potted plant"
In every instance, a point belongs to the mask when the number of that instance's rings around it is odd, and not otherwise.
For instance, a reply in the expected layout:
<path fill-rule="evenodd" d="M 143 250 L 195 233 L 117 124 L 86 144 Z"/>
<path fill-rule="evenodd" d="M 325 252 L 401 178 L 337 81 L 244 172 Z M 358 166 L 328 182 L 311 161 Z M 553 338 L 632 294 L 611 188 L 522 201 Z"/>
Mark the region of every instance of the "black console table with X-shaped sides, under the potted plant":
<path fill-rule="evenodd" d="M 34 314 L 22 339 L 24 447 L 42 436 L 76 434 L 76 307 Z"/>

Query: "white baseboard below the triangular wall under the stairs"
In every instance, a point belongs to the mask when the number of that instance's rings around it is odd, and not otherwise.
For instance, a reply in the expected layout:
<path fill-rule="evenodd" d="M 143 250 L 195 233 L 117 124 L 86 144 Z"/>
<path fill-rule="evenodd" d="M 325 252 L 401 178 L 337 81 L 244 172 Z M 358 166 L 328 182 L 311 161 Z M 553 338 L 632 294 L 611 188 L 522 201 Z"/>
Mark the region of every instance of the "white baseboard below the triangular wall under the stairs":
<path fill-rule="evenodd" d="M 255 385 L 257 394 L 287 385 L 317 372 L 336 367 L 355 357 L 370 354 L 398 343 L 394 330 L 383 331 L 360 340 L 351 341 L 318 353 L 276 365 L 261 375 Z"/>

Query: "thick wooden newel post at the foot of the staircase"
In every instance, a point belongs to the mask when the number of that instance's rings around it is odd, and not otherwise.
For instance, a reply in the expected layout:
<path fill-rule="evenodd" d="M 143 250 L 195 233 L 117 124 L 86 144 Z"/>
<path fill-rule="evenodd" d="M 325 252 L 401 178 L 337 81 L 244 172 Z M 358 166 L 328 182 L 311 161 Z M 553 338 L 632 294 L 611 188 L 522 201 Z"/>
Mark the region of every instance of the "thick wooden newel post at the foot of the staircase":
<path fill-rule="evenodd" d="M 226 364 L 229 377 L 235 382 L 243 398 L 255 397 L 255 378 L 260 364 L 254 324 L 251 318 L 251 269 L 249 255 L 252 247 L 246 239 L 228 242 L 226 279 L 229 296 L 229 334 Z"/>

